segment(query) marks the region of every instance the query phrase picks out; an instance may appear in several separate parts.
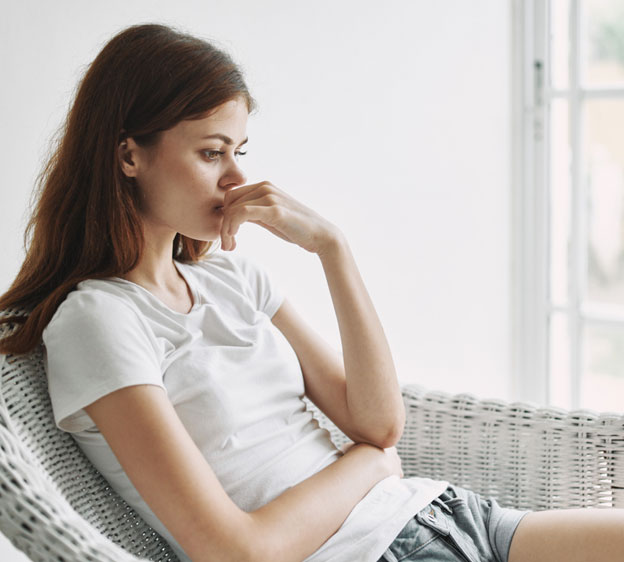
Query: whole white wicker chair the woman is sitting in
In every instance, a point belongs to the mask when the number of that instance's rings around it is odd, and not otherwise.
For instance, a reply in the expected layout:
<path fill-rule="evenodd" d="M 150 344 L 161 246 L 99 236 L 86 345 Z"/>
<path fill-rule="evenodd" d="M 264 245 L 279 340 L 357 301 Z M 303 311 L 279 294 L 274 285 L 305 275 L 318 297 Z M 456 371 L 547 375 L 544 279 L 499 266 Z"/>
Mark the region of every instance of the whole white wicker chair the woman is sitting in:
<path fill-rule="evenodd" d="M 165 540 L 54 424 L 42 346 L 0 355 L 0 530 L 32 560 L 176 561 Z M 524 509 L 624 507 L 624 416 L 405 386 L 406 476 Z M 308 407 L 336 444 L 346 441 Z"/>

